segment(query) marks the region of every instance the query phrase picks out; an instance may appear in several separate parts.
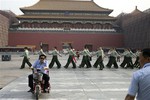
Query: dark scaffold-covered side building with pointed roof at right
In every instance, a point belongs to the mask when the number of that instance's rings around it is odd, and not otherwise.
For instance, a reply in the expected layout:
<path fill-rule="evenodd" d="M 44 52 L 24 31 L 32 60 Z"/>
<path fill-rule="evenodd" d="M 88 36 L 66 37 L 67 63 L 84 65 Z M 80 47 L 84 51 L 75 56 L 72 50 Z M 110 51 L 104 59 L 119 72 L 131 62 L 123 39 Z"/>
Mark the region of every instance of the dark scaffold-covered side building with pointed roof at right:
<path fill-rule="evenodd" d="M 124 46 L 143 49 L 150 47 L 150 13 L 137 7 L 127 14 L 120 14 L 116 21 L 124 34 Z"/>

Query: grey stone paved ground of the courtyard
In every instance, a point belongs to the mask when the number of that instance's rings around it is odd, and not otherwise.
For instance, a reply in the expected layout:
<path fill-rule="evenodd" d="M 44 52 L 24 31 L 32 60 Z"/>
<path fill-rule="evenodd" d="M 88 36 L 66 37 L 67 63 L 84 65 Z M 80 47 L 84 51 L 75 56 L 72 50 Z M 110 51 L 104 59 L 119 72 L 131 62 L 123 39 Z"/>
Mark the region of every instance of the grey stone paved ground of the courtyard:
<path fill-rule="evenodd" d="M 38 58 L 31 55 L 31 62 Z M 60 58 L 63 65 L 67 56 Z M 93 58 L 92 64 L 96 58 Z M 51 56 L 48 56 L 51 60 Z M 28 93 L 28 66 L 19 69 L 22 57 L 12 55 L 11 61 L 0 61 L 0 100 L 32 100 L 34 95 Z M 79 65 L 81 60 L 77 62 Z M 104 64 L 108 62 L 105 59 Z M 137 69 L 104 69 L 95 68 L 50 69 L 51 91 L 41 94 L 41 100 L 124 100 L 133 71 Z"/>

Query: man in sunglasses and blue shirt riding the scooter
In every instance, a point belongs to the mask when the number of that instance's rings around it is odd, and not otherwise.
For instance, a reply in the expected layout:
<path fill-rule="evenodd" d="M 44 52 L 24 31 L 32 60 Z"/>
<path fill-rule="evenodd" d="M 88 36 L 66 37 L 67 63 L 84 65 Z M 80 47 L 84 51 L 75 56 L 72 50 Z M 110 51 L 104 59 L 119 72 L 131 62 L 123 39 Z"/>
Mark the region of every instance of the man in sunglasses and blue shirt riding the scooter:
<path fill-rule="evenodd" d="M 48 70 L 48 61 L 46 60 L 46 56 L 44 54 L 41 54 L 39 56 L 39 59 L 35 61 L 35 63 L 32 66 L 32 69 L 34 69 L 34 73 L 37 73 L 37 70 L 40 70 L 43 74 L 43 79 L 45 80 L 44 82 L 44 92 L 45 89 L 48 87 L 48 82 L 49 82 L 49 75 L 47 74 L 46 70 Z M 30 74 L 28 76 L 29 79 L 29 87 L 30 90 L 28 92 L 32 92 L 33 89 L 33 74 Z"/>

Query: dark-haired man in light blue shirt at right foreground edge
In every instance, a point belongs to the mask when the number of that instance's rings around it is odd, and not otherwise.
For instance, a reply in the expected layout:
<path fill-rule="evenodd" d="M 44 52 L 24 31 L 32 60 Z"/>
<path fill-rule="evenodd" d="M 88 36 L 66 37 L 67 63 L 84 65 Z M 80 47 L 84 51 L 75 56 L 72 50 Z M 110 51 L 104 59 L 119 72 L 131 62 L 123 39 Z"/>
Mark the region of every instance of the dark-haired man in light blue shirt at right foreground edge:
<path fill-rule="evenodd" d="M 142 50 L 139 62 L 142 68 L 133 73 L 125 100 L 150 100 L 150 48 Z"/>

